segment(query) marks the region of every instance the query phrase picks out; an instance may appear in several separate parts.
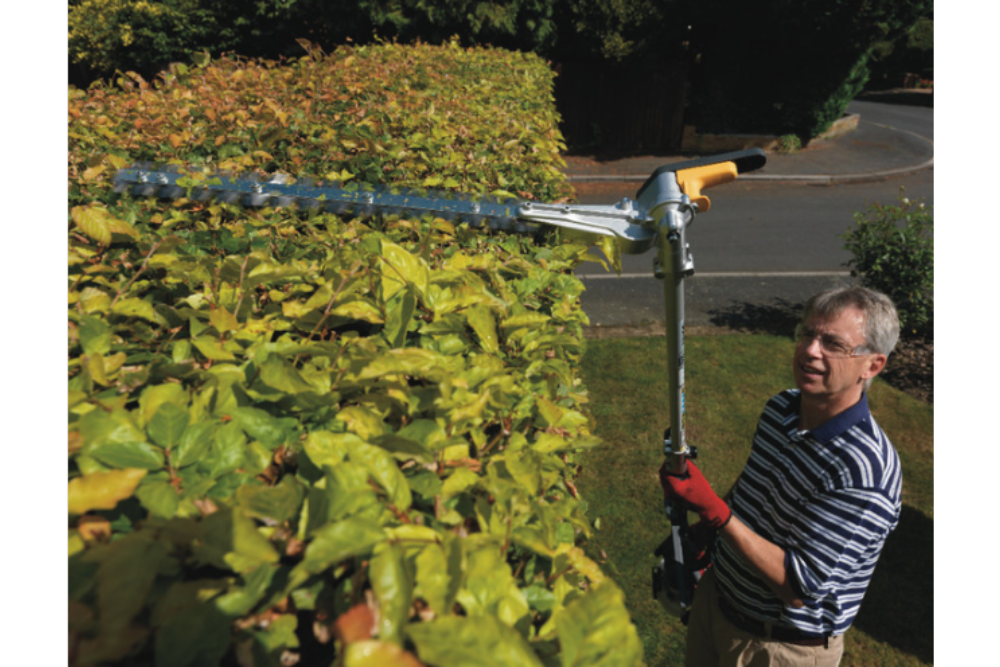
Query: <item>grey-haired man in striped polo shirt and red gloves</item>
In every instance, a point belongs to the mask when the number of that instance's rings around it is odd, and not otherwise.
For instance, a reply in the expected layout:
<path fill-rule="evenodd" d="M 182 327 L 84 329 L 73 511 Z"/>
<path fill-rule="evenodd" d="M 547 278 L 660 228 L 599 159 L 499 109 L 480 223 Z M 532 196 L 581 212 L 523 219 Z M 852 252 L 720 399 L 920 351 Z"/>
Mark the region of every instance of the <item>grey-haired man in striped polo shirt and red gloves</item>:
<path fill-rule="evenodd" d="M 885 295 L 817 294 L 796 329 L 798 389 L 768 401 L 726 500 L 690 461 L 685 475 L 660 469 L 666 497 L 721 538 L 695 593 L 688 667 L 840 664 L 899 521 L 899 458 L 865 393 L 898 338 Z"/>

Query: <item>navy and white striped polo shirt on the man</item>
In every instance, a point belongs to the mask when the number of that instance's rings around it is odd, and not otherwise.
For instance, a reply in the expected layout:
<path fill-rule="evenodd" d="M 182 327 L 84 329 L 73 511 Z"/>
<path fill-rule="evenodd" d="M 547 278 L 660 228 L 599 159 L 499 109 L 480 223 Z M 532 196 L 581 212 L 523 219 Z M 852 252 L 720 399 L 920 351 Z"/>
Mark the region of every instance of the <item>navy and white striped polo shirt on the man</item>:
<path fill-rule="evenodd" d="M 799 431 L 799 390 L 768 401 L 729 506 L 785 549 L 801 609 L 786 607 L 724 540 L 715 559 L 722 594 L 746 615 L 816 635 L 850 627 L 882 546 L 899 522 L 902 472 L 867 396 Z"/>

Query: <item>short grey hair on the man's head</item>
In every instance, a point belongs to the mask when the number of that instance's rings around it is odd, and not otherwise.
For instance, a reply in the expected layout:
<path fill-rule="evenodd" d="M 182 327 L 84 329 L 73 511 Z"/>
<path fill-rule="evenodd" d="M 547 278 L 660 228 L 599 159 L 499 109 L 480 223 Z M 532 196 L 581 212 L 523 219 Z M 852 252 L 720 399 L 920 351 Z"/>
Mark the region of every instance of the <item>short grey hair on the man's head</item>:
<path fill-rule="evenodd" d="M 892 299 L 860 285 L 834 287 L 813 295 L 802 309 L 802 321 L 811 316 L 828 319 L 839 315 L 845 308 L 857 308 L 865 316 L 865 343 L 860 351 L 889 356 L 899 341 L 899 315 Z M 869 379 L 865 383 L 867 390 Z"/>

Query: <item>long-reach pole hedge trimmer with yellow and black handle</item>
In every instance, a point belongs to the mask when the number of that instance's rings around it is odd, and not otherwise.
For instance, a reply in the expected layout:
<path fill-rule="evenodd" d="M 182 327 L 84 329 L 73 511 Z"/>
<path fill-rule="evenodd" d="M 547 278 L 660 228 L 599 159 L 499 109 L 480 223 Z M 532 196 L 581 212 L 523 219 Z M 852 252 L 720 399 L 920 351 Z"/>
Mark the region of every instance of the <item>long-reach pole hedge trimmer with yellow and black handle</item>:
<path fill-rule="evenodd" d="M 695 456 L 684 434 L 684 279 L 694 273 L 686 240 L 695 214 L 710 202 L 702 190 L 759 169 L 766 157 L 759 149 L 715 155 L 660 167 L 639 188 L 635 200 L 611 205 L 546 204 L 500 197 L 476 199 L 446 192 L 370 188 L 338 183 L 297 182 L 287 176 L 263 180 L 177 169 L 134 166 L 119 171 L 115 189 L 138 196 L 218 199 L 244 206 L 320 208 L 340 215 L 433 215 L 470 226 L 532 233 L 554 226 L 588 242 L 613 239 L 620 252 L 641 254 L 656 247 L 656 277 L 664 281 L 670 425 L 663 439 L 667 468 L 683 474 Z M 687 509 L 666 507 L 671 536 L 657 550 L 653 595 L 668 612 L 685 618 L 696 585 L 694 549 Z"/>

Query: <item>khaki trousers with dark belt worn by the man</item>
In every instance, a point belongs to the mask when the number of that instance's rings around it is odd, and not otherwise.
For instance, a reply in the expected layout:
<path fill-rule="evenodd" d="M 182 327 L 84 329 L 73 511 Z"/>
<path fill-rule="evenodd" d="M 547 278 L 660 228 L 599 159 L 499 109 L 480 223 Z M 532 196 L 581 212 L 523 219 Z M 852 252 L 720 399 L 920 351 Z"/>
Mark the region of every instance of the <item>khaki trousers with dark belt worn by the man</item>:
<path fill-rule="evenodd" d="M 759 639 L 726 620 L 719 611 L 715 569 L 698 584 L 688 623 L 685 667 L 837 667 L 844 636 L 830 637 L 829 647 L 798 646 Z"/>

